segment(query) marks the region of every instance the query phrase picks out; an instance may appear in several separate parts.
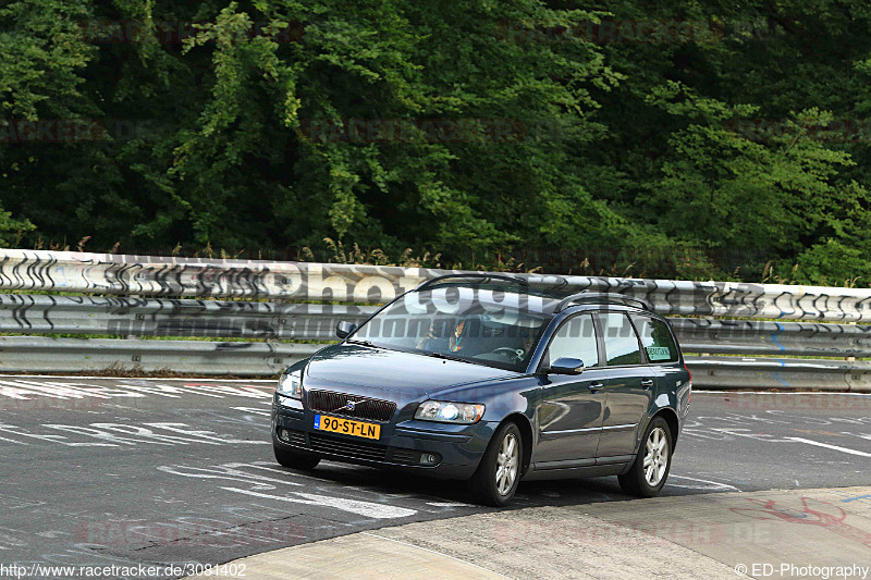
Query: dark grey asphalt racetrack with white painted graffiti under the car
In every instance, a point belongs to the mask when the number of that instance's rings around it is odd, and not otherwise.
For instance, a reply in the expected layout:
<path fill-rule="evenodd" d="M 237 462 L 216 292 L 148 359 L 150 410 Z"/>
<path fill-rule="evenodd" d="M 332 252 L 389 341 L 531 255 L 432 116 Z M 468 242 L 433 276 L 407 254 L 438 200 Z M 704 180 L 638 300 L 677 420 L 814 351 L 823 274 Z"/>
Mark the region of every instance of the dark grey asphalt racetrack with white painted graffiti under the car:
<path fill-rule="evenodd" d="M 278 466 L 271 391 L 257 381 L 0 378 L 0 576 L 12 565 L 30 577 L 51 576 L 42 565 L 174 564 L 187 573 L 489 510 L 467 504 L 462 484 L 328 461 L 311 473 Z M 870 458 L 871 395 L 697 392 L 664 494 L 867 485 Z M 530 482 L 513 507 L 625 498 L 616 478 Z M 173 575 L 149 572 L 161 576 Z"/>

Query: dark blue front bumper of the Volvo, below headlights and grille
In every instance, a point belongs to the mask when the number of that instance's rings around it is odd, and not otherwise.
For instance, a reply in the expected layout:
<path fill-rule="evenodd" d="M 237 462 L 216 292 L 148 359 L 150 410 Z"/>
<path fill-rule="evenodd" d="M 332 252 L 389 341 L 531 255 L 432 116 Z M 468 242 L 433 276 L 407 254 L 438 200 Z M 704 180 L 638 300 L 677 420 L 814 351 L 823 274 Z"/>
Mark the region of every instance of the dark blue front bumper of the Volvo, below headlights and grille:
<path fill-rule="evenodd" d="M 302 408 L 302 405 L 298 407 L 286 407 L 273 400 L 272 443 L 277 447 L 314 453 L 329 460 L 413 471 L 442 479 L 470 478 L 499 427 L 499 423 L 487 421 L 464 425 L 410 419 L 379 423 L 381 436 L 371 441 L 318 431 L 312 427 L 316 412 Z M 421 465 L 424 455 L 437 455 L 437 465 Z"/>

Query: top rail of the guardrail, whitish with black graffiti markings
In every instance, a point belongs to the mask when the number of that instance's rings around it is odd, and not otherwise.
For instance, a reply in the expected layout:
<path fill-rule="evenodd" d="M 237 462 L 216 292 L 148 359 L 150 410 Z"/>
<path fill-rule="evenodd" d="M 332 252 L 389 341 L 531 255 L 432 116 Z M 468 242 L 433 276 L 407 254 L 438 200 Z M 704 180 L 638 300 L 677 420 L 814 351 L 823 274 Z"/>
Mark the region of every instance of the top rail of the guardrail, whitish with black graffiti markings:
<path fill-rule="evenodd" d="M 0 250 L 0 289 L 103 295 L 248 297 L 385 303 L 444 270 L 378 266 L 200 260 Z M 871 319 L 871 292 L 621 277 L 519 274 L 533 285 L 618 292 L 663 314 L 855 322 Z"/>

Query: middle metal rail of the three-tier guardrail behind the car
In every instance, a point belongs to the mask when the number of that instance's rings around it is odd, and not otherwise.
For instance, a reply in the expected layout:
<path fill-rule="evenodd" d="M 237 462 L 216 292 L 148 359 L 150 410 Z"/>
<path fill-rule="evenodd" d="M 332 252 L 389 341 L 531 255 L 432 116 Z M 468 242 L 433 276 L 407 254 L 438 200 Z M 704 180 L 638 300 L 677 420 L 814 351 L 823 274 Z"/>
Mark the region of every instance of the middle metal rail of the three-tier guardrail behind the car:
<path fill-rule="evenodd" d="M 0 333 L 333 341 L 373 306 L 0 295 Z M 686 353 L 871 357 L 871 325 L 672 318 Z"/>

